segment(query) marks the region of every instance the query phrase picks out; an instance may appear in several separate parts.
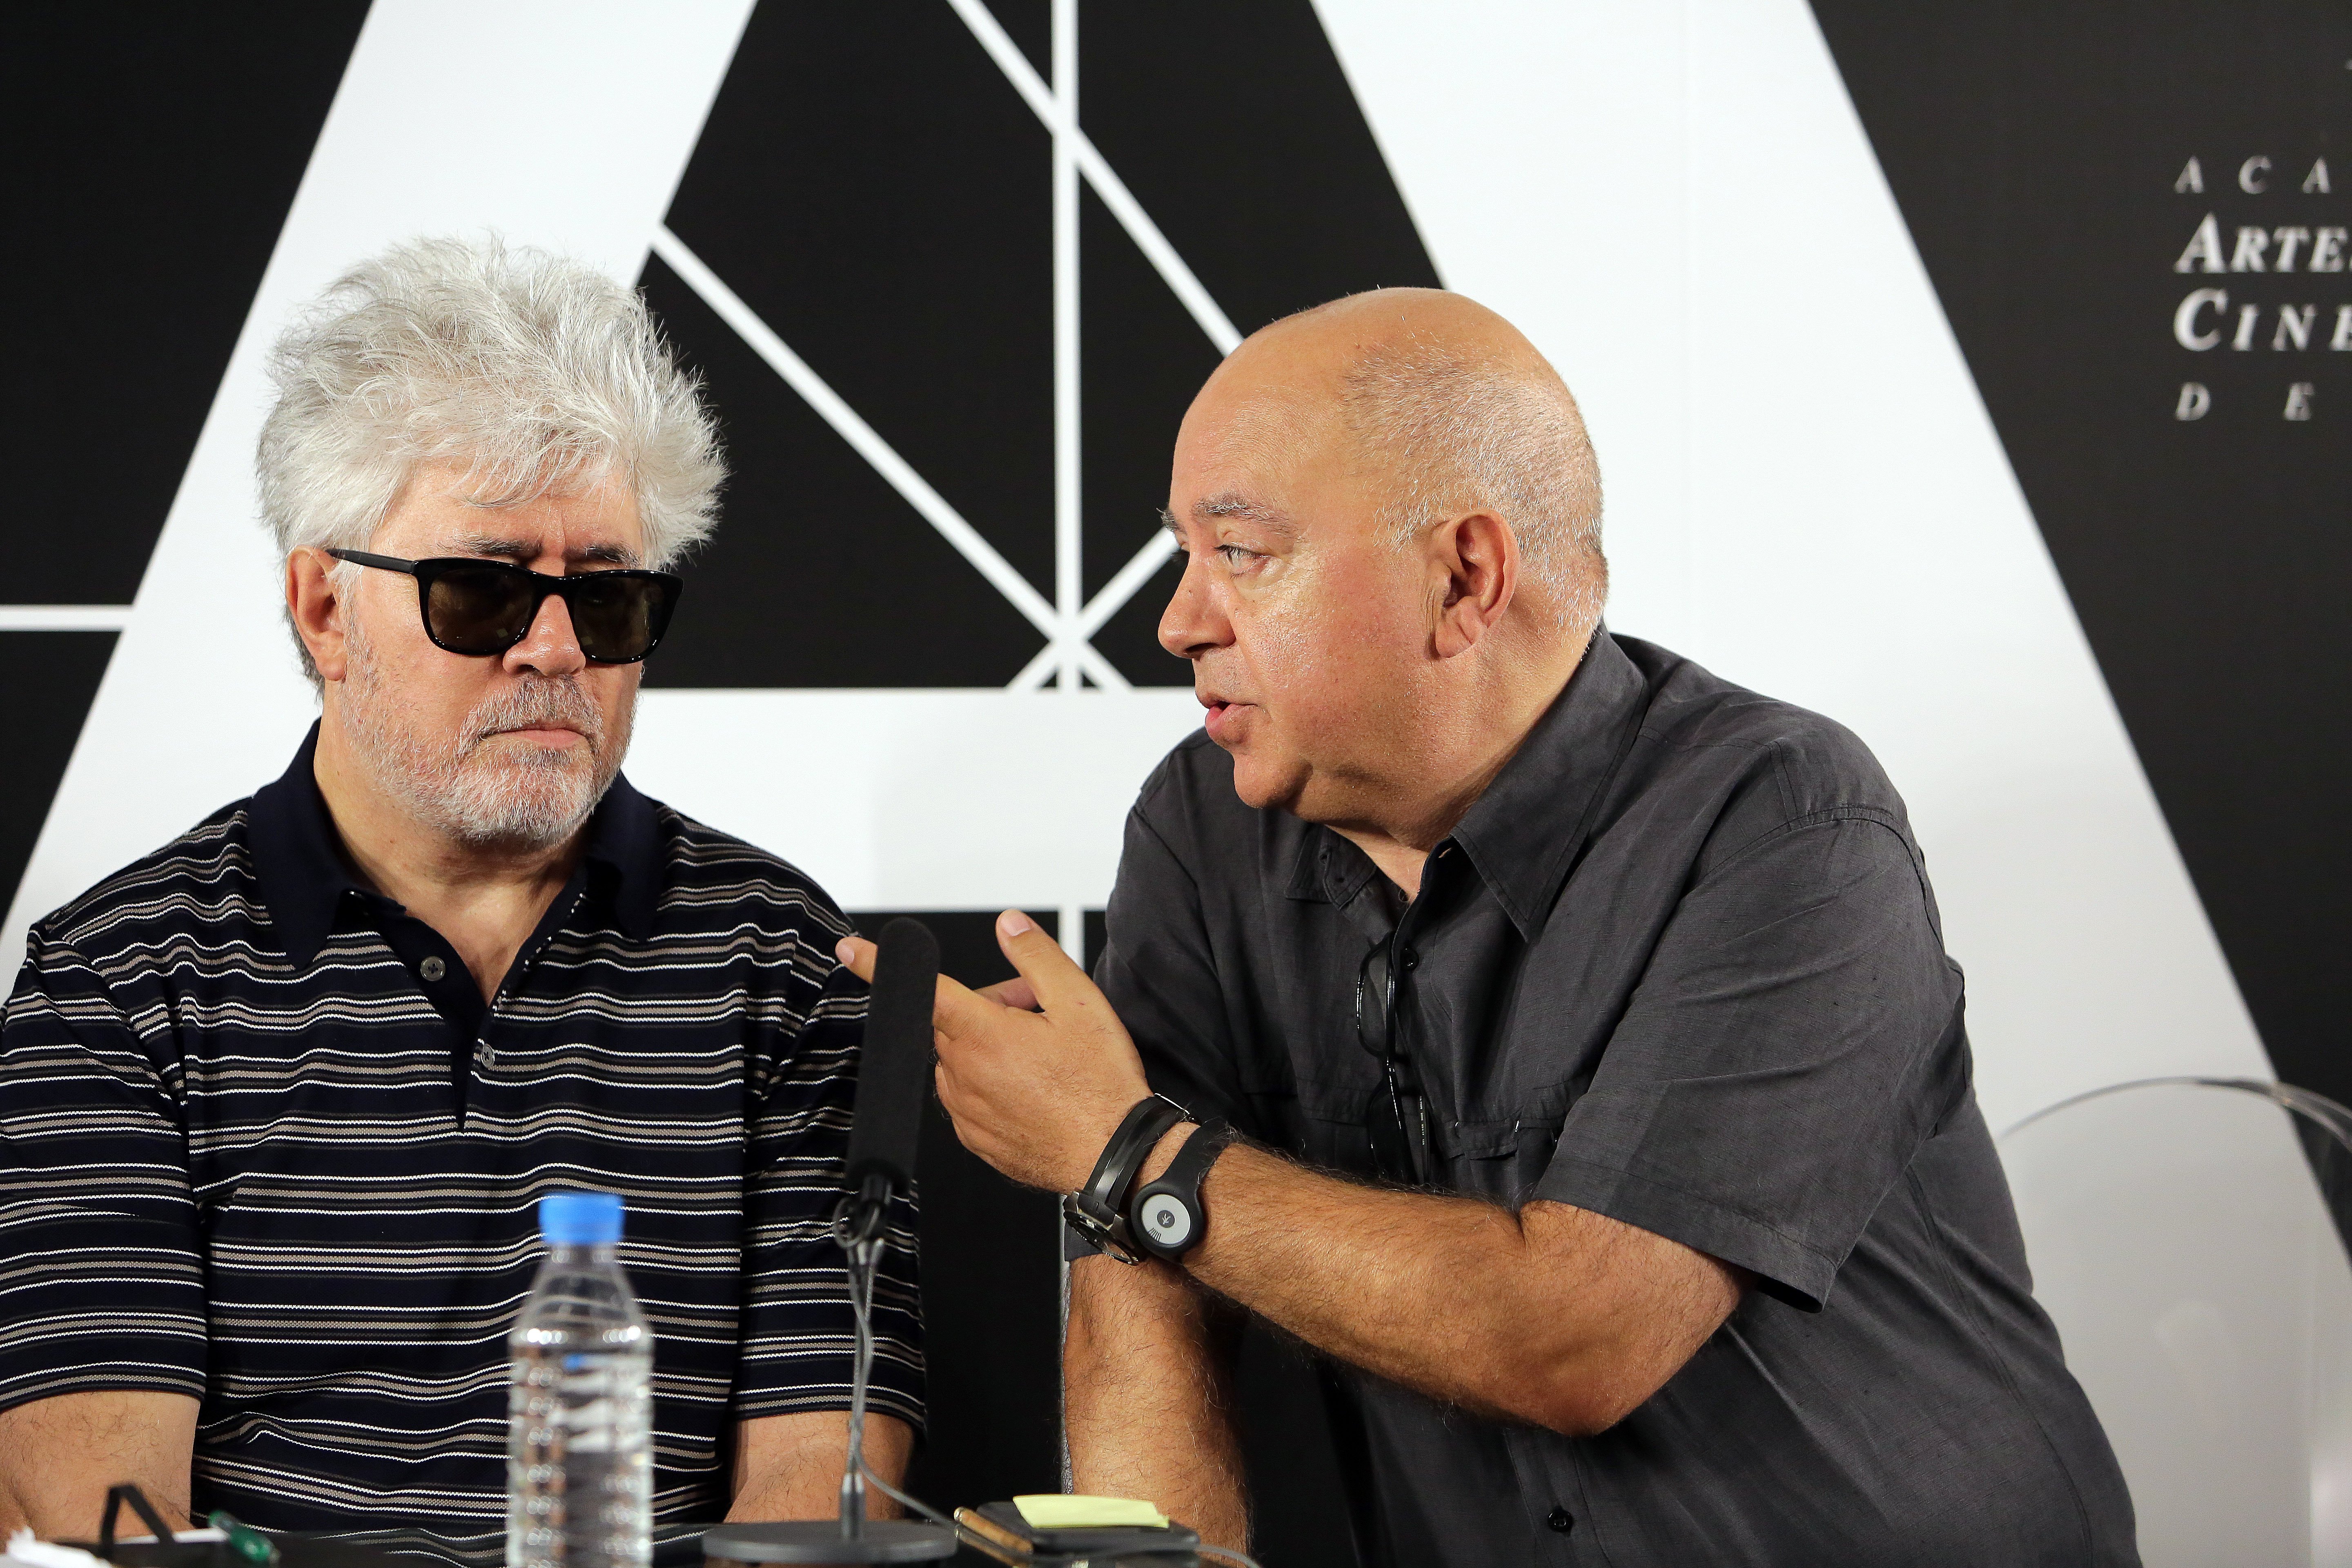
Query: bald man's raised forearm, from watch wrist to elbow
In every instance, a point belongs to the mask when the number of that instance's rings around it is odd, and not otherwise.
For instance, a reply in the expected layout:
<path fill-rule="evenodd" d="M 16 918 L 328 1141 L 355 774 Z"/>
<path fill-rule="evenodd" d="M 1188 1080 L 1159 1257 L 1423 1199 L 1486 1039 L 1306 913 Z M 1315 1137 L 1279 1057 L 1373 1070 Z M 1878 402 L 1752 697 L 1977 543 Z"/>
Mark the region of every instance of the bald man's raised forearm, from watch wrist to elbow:
<path fill-rule="evenodd" d="M 1185 1128 L 1155 1150 L 1157 1175 Z M 1564 1204 L 1364 1187 L 1235 1145 L 1185 1267 L 1324 1354 L 1451 1403 L 1597 1432 L 1738 1302 L 1731 1269 Z M 1661 1338 L 1658 1324 L 1686 1324 Z"/>

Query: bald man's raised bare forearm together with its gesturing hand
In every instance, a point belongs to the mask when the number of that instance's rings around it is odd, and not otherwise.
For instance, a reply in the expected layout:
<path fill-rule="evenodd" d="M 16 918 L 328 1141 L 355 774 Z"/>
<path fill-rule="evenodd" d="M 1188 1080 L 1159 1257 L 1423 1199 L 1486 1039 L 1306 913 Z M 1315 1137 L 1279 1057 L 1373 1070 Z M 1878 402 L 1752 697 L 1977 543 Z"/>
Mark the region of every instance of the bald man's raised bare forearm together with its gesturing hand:
<path fill-rule="evenodd" d="M 1103 992 L 1028 917 L 997 917 L 997 945 L 1018 983 L 981 994 L 938 980 L 938 1098 L 974 1154 L 1070 1192 L 1150 1093 L 1143 1063 Z M 873 978 L 873 943 L 840 954 Z M 1190 1131 L 1162 1138 L 1141 1180 Z M 1569 1434 L 1656 1394 L 1748 1288 L 1740 1269 L 1599 1213 L 1364 1187 L 1254 1147 L 1228 1150 L 1202 1199 L 1192 1279 L 1341 1361 Z"/>

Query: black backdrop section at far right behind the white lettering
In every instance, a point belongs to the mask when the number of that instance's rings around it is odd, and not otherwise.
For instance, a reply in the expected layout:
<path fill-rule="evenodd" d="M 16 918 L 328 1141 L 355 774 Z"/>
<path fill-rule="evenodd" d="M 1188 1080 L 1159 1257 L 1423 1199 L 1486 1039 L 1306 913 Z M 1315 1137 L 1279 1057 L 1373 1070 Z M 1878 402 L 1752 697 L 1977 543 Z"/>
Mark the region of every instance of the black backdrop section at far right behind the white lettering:
<path fill-rule="evenodd" d="M 2263 1044 L 2281 1079 L 2352 1100 L 2352 353 L 2328 346 L 2352 273 L 2310 273 L 2310 235 L 2281 273 L 2274 237 L 2352 228 L 2352 12 L 1813 12 Z M 2190 158 L 2204 190 L 2176 188 Z M 2319 158 L 2328 193 L 2303 188 Z M 2176 270 L 2206 214 L 2230 252 L 2260 228 L 2270 266 Z M 2199 287 L 2230 294 L 2209 350 L 2173 327 Z M 2281 306 L 2317 306 L 2307 346 L 2281 346 Z M 2201 418 L 2178 418 L 2190 381 Z"/>

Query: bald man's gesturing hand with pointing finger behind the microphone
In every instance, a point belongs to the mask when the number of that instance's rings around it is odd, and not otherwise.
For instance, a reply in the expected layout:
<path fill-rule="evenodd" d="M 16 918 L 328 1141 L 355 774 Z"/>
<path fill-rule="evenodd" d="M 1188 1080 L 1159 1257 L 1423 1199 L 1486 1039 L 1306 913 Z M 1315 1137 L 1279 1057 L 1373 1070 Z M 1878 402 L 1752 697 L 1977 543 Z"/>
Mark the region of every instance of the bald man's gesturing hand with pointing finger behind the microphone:
<path fill-rule="evenodd" d="M 1073 1192 L 1120 1119 L 1150 1093 L 1143 1060 L 1087 971 L 1028 914 L 1000 914 L 997 945 L 1021 980 L 974 992 L 938 978 L 938 1103 L 964 1147 L 990 1166 L 1030 1187 Z M 873 943 L 847 938 L 840 959 L 873 980 Z"/>

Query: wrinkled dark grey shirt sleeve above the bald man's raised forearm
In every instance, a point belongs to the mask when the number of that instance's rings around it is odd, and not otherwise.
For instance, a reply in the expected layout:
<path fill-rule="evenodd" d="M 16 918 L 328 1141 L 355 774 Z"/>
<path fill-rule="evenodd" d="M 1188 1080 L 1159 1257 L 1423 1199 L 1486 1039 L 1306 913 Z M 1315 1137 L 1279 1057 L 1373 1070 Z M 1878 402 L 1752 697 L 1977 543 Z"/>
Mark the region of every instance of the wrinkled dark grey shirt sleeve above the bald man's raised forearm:
<path fill-rule="evenodd" d="M 1818 1309 L 1966 1103 L 1962 983 L 1872 811 L 1764 835 L 1677 905 L 1529 1194 L 1752 1269 Z"/>

